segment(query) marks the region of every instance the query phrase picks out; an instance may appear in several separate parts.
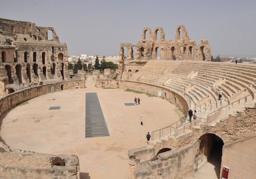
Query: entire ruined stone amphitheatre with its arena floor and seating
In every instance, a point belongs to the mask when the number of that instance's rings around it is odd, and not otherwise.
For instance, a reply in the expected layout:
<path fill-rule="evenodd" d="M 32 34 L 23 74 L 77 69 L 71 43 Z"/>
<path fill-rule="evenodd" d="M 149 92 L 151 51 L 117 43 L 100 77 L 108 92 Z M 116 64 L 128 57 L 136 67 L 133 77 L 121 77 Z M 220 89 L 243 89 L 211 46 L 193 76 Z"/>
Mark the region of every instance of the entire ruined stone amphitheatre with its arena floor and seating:
<path fill-rule="evenodd" d="M 116 71 L 70 78 L 53 27 L 0 18 L 0 178 L 255 178 L 256 65 L 175 33 L 144 28 Z"/>

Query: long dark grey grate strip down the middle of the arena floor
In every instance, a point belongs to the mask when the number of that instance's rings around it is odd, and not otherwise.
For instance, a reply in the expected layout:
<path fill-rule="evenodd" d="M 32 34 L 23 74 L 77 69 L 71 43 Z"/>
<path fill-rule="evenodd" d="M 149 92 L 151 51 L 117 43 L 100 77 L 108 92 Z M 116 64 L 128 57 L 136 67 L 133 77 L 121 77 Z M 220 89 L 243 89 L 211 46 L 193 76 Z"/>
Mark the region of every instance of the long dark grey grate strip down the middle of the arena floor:
<path fill-rule="evenodd" d="M 85 93 L 85 138 L 109 136 L 97 93 Z"/>

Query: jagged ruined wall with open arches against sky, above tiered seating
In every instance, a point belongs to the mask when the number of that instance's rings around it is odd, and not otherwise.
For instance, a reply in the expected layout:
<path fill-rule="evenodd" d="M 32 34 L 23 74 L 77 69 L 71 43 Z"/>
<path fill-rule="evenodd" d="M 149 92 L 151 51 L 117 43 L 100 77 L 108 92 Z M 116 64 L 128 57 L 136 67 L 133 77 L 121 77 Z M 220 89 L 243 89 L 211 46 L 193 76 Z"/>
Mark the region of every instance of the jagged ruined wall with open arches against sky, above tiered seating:
<path fill-rule="evenodd" d="M 195 40 L 189 39 L 184 25 L 176 28 L 176 38 L 166 41 L 163 28 L 154 31 L 144 28 L 142 39 L 137 44 L 122 43 L 119 60 L 211 60 L 211 47 L 206 39 L 197 46 Z M 127 49 L 127 54 L 124 52 Z M 126 62 L 124 62 L 126 63 Z"/>

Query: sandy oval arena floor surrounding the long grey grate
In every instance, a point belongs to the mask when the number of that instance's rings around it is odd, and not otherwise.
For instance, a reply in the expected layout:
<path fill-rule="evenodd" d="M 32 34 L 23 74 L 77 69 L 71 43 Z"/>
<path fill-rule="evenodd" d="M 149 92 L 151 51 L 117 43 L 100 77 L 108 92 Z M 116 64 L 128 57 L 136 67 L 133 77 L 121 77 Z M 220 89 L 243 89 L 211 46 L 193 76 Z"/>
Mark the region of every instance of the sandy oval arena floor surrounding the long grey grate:
<path fill-rule="evenodd" d="M 166 100 L 124 89 L 63 90 L 34 98 L 12 109 L 2 121 L 1 137 L 12 150 L 76 154 L 81 178 L 127 178 L 127 151 L 147 145 L 146 134 L 179 119 Z M 108 125 L 109 137 L 85 138 L 85 93 L 96 92 Z M 125 106 L 140 97 L 141 104 Z M 60 106 L 59 110 L 49 110 Z M 144 125 L 140 125 L 143 117 Z"/>

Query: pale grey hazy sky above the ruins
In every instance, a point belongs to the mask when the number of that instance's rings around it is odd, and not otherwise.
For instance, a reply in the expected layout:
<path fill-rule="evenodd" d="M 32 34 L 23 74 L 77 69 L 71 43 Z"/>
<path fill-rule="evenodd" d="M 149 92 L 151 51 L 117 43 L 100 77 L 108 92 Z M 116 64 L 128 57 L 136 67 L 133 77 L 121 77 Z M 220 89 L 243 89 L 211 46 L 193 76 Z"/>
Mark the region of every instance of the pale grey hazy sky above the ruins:
<path fill-rule="evenodd" d="M 161 26 L 166 41 L 185 25 L 213 56 L 256 55 L 255 0 L 1 0 L 0 18 L 53 26 L 69 55 L 118 55 L 145 27 Z"/>

